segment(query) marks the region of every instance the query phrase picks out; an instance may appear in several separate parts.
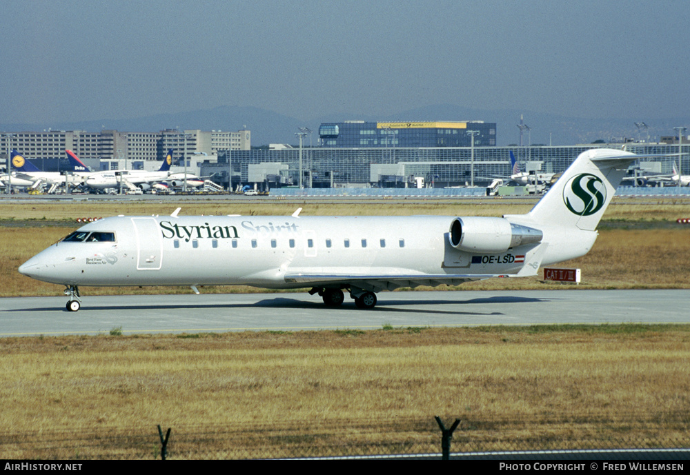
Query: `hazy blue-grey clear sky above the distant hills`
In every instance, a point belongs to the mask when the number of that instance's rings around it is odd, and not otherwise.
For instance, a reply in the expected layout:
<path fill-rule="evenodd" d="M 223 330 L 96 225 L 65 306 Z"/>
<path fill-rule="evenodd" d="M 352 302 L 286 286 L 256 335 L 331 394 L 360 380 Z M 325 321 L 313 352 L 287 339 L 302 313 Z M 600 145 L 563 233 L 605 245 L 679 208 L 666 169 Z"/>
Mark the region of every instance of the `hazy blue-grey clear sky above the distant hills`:
<path fill-rule="evenodd" d="M 298 119 L 440 103 L 645 120 L 689 112 L 682 0 L 0 6 L 0 123 L 217 105 Z"/>

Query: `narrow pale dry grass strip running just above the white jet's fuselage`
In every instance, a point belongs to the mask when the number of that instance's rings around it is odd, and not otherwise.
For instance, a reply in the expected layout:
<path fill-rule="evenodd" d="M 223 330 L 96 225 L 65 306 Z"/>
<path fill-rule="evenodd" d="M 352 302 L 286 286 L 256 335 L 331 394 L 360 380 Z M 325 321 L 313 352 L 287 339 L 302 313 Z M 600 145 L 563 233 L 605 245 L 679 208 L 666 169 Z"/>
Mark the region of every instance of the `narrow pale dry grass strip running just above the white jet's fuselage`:
<path fill-rule="evenodd" d="M 117 214 L 169 214 L 178 206 L 181 214 L 259 214 L 290 215 L 303 208 L 305 216 L 319 215 L 389 215 L 409 216 L 431 214 L 447 216 L 501 216 L 528 212 L 537 199 L 380 199 L 328 200 L 299 199 L 166 199 L 135 200 L 32 200 L 0 201 L 0 223 L 3 221 L 72 221 L 81 217 L 116 216 Z M 685 198 L 620 198 L 614 196 L 604 219 L 613 221 L 675 221 L 690 217 L 690 199 Z"/>

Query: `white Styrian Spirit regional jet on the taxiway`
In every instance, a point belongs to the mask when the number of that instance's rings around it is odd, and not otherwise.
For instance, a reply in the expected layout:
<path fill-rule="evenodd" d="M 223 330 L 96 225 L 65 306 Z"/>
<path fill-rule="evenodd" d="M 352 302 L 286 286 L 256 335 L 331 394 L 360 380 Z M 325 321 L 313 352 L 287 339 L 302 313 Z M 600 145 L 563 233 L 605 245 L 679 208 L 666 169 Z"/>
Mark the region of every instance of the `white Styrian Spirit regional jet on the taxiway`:
<path fill-rule="evenodd" d="M 375 292 L 533 276 L 589 252 L 596 227 L 638 155 L 589 150 L 527 214 L 479 216 L 116 216 L 89 223 L 19 267 L 66 285 L 243 284 L 312 287 L 326 305 Z"/>

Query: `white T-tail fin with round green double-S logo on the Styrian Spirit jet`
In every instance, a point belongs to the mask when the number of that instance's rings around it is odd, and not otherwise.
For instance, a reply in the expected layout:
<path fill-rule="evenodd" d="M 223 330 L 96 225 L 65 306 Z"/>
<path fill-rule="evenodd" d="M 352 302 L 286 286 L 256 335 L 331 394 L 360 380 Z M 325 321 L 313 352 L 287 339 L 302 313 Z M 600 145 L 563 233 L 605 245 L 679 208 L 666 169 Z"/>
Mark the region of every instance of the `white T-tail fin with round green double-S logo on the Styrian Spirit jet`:
<path fill-rule="evenodd" d="M 627 168 L 638 158 L 604 148 L 582 152 L 529 213 L 506 218 L 526 225 L 594 231 Z"/>

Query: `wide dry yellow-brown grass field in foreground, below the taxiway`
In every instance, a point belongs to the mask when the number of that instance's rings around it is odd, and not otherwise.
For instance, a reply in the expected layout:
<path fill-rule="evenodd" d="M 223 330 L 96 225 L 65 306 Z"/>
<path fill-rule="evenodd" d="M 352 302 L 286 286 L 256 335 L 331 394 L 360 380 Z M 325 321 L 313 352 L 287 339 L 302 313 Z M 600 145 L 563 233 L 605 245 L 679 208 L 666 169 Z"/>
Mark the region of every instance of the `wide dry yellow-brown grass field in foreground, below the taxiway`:
<path fill-rule="evenodd" d="M 689 350 L 687 327 L 642 325 L 1 338 L 0 401 L 12 434 L 161 424 L 174 434 L 244 426 L 250 437 L 263 423 L 293 423 L 304 436 L 324 430 L 307 421 L 353 419 L 399 421 L 405 433 L 439 414 L 466 428 L 529 422 L 502 427 L 504 440 L 544 421 L 559 440 L 586 439 L 593 427 L 622 437 L 631 416 L 684 440 L 660 421 L 687 421 Z M 227 450 L 227 441 L 208 443 L 207 456 Z M 268 445 L 264 456 L 282 443 Z M 2 458 L 32 456 L 0 449 Z M 103 447 L 94 450 L 80 456 Z"/>

